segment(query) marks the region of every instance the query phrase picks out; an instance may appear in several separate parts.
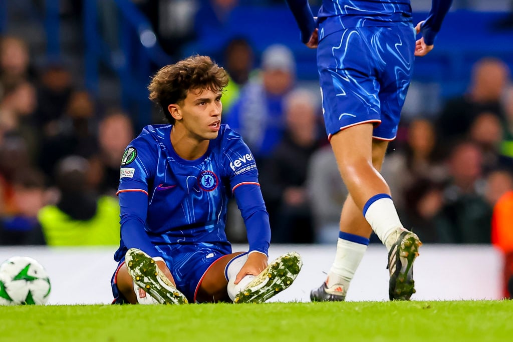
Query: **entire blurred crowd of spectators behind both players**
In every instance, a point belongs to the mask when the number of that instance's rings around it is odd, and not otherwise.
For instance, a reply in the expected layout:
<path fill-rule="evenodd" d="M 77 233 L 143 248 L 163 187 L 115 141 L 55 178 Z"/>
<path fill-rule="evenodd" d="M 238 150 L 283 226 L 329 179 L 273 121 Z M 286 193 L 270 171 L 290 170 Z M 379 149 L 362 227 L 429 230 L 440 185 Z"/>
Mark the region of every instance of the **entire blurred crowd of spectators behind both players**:
<path fill-rule="evenodd" d="M 135 3 L 145 9 L 151 2 Z M 238 2 L 207 3 L 202 10 L 220 21 L 220 9 Z M 235 37 L 218 63 L 230 75 L 223 122 L 243 136 L 257 160 L 272 242 L 333 243 L 347 190 L 324 131 L 318 84 L 297 78 L 294 55 L 284 45 L 260 54 Z M 507 65 L 481 59 L 467 91 L 445 100 L 440 113 L 404 117 L 382 173 L 405 226 L 426 244 L 494 243 L 513 250 Z M 120 108 L 98 104 L 66 63 L 35 68 L 30 47 L 3 36 L 0 245 L 119 243 L 120 160 L 139 129 Z M 245 242 L 234 204 L 227 233 L 232 242 Z"/>

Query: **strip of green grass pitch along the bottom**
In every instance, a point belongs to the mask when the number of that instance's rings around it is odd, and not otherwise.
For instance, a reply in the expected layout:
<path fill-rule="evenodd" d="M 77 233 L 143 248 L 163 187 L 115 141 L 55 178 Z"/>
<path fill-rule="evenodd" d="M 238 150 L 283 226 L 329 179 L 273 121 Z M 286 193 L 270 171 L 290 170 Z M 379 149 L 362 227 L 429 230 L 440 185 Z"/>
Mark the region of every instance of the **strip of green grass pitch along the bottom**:
<path fill-rule="evenodd" d="M 0 307 L 0 341 L 512 341 L 513 301 Z"/>

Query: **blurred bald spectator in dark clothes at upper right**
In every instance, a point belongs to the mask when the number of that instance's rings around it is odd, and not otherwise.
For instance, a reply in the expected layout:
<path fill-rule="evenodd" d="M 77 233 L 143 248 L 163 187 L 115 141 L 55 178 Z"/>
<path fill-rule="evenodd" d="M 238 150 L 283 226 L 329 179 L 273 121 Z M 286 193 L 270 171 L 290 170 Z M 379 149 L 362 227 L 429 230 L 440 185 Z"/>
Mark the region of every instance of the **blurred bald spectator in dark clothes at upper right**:
<path fill-rule="evenodd" d="M 483 112 L 504 118 L 501 96 L 509 81 L 509 68 L 498 58 L 485 57 L 472 68 L 466 94 L 449 99 L 440 113 L 437 127 L 446 142 L 465 138 L 473 120 Z"/>

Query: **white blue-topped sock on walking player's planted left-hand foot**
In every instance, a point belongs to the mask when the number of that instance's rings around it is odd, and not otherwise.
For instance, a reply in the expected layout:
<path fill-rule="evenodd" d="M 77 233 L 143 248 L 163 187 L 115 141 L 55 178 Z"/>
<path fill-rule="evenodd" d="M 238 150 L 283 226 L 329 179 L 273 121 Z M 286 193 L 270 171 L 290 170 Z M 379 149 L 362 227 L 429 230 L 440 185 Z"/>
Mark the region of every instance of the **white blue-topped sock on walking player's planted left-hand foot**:
<path fill-rule="evenodd" d="M 329 270 L 326 286 L 330 288 L 337 284 L 342 285 L 344 292 L 347 292 L 349 283 L 358 265 L 360 265 L 366 250 L 367 245 L 358 244 L 339 237 L 337 253 Z"/>

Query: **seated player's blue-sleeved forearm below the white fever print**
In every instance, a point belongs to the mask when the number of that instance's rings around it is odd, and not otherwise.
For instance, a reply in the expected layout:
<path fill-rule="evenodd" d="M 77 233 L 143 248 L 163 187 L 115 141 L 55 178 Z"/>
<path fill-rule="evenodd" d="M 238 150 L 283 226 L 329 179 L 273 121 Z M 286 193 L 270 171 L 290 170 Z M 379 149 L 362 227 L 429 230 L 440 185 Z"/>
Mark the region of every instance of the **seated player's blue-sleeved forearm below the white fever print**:
<path fill-rule="evenodd" d="M 268 255 L 271 228 L 260 187 L 252 184 L 237 187 L 235 199 L 246 225 L 249 251 Z"/>

